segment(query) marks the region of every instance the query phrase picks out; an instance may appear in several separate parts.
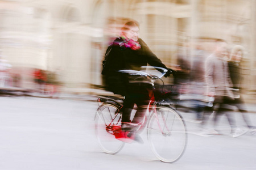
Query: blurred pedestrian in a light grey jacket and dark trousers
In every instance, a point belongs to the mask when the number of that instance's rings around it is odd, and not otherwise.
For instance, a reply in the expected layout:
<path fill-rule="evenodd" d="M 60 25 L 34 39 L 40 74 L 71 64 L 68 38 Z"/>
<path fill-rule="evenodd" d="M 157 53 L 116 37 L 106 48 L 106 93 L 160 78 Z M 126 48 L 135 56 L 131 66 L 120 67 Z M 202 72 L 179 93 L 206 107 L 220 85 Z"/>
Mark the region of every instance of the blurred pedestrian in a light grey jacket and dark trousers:
<path fill-rule="evenodd" d="M 227 42 L 222 39 L 216 40 L 216 48 L 205 62 L 205 78 L 208 86 L 208 95 L 214 97 L 213 107 L 207 107 L 203 114 L 202 126 L 205 125 L 208 117 L 214 111 L 213 126 L 214 129 L 210 134 L 219 134 L 216 130 L 218 120 L 223 114 L 226 115 L 231 128 L 232 137 L 239 137 L 245 134 L 246 131 L 237 128 L 234 120 L 234 115 L 230 111 L 230 104 L 234 101 L 234 94 L 232 91 L 232 81 L 229 75 L 229 68 L 227 62 Z"/>

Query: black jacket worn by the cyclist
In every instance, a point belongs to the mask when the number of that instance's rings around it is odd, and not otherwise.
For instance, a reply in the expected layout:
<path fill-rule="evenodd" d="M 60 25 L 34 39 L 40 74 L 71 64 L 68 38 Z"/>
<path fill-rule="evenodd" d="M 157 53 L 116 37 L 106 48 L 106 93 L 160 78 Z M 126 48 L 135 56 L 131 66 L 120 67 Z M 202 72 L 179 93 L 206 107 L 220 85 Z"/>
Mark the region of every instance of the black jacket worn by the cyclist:
<path fill-rule="evenodd" d="M 120 46 L 119 44 L 122 41 L 122 38 L 119 37 L 109 46 L 108 59 L 105 61 L 101 74 L 106 76 L 108 90 L 113 91 L 115 94 L 125 95 L 129 80 L 127 76 L 118 73 L 119 70 L 141 70 L 141 67 L 147 66 L 147 63 L 155 67 L 163 67 L 165 69 L 167 67 L 151 52 L 142 39 L 138 40 L 141 45 L 139 50 Z"/>

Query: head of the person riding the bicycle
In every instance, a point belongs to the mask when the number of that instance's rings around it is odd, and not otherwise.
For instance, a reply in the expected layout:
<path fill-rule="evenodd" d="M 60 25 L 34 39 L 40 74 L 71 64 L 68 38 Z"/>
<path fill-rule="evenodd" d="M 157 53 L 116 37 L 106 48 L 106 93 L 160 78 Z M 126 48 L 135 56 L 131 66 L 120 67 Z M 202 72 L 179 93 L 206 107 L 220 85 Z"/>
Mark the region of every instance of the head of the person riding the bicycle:
<path fill-rule="evenodd" d="M 139 23 L 131 20 L 125 23 L 121 29 L 121 34 L 126 38 L 138 41 L 139 39 Z"/>

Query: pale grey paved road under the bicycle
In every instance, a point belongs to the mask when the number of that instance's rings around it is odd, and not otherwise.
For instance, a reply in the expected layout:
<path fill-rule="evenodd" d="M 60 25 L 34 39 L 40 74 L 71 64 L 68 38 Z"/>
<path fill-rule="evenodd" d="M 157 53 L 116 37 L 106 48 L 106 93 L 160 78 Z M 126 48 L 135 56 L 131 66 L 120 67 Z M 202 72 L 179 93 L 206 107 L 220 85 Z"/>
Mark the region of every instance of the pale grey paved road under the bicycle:
<path fill-rule="evenodd" d="M 195 135 L 198 124 L 187 121 L 188 146 L 174 164 L 159 162 L 142 133 L 144 145 L 127 144 L 117 155 L 101 152 L 94 137 L 97 104 L 39 97 L 0 97 L 0 169 L 255 169 L 256 135 L 231 138 Z M 192 113 L 182 113 L 193 120 Z M 249 115 L 256 125 L 256 114 Z M 236 115 L 237 122 L 243 122 Z"/>

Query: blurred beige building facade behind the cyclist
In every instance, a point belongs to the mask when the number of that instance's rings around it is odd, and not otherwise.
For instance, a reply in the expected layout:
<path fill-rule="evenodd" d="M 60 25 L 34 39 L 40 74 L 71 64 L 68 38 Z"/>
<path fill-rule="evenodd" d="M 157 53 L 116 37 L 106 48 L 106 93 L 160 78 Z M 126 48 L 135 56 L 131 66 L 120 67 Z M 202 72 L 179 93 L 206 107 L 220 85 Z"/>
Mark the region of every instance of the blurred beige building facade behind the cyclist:
<path fill-rule="evenodd" d="M 0 1 L 0 49 L 21 86 L 34 68 L 53 71 L 64 87 L 101 85 L 106 47 L 129 19 L 169 67 L 204 40 L 245 47 L 245 88 L 256 90 L 256 2 L 253 0 L 13 0 Z"/>

